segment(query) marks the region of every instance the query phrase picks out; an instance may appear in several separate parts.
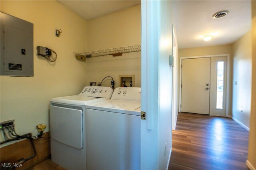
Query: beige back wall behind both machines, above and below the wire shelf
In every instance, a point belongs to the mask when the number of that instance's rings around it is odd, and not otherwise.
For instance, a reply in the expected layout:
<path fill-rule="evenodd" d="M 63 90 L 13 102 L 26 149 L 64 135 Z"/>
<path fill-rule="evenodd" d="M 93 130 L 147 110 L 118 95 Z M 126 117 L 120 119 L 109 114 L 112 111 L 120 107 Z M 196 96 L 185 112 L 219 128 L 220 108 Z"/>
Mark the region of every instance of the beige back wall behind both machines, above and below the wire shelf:
<path fill-rule="evenodd" d="M 88 20 L 88 50 L 100 50 L 140 44 L 140 5 Z M 106 76 L 112 76 L 115 87 L 119 75 L 135 75 L 135 87 L 140 87 L 140 52 L 124 53 L 87 58 L 85 62 L 86 85 L 89 82 L 101 82 Z M 111 79 L 102 85 L 109 86 Z"/>

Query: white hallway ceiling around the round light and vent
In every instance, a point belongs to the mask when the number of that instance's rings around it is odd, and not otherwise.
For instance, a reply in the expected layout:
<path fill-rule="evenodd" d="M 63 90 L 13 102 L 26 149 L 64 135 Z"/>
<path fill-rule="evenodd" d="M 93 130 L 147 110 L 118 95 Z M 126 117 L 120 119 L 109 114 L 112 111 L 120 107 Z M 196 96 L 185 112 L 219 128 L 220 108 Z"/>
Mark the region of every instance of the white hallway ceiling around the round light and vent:
<path fill-rule="evenodd" d="M 250 0 L 180 0 L 173 7 L 179 48 L 230 44 L 251 29 Z M 229 12 L 223 18 L 212 18 L 222 10 Z M 208 34 L 212 40 L 203 41 Z"/>

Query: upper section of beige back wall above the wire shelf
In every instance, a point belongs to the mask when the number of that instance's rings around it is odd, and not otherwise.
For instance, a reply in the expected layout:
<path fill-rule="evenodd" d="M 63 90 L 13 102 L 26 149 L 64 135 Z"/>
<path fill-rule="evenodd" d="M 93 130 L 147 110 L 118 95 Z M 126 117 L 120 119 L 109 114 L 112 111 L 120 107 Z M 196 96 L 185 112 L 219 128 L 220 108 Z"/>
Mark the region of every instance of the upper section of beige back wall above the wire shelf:
<path fill-rule="evenodd" d="M 140 44 L 140 5 L 88 20 L 88 50 Z"/>

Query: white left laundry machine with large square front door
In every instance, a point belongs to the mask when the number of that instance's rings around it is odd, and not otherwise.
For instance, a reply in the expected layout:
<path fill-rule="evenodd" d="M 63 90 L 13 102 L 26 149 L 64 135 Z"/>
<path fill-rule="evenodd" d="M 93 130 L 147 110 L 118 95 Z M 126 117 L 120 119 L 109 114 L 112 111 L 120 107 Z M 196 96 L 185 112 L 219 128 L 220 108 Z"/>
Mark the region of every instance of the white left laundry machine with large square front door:
<path fill-rule="evenodd" d="M 84 87 L 79 95 L 50 101 L 52 161 L 66 169 L 86 169 L 86 105 L 110 99 L 110 87 Z"/>

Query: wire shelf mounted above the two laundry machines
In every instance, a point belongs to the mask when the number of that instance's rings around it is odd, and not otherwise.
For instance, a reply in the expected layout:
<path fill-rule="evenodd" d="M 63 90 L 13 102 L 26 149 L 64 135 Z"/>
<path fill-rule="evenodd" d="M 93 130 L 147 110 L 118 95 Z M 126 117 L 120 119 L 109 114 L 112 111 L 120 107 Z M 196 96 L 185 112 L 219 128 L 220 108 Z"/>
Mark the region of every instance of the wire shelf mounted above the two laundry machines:
<path fill-rule="evenodd" d="M 141 51 L 141 45 L 132 45 L 127 47 L 118 47 L 118 48 L 102 49 L 97 51 L 88 51 L 84 53 L 76 53 L 76 58 L 85 61 L 85 57 L 90 58 L 90 57 L 98 57 L 98 56 L 104 56 L 104 55 L 118 56 L 119 54 L 122 55 L 122 53 L 130 53 L 130 52 L 136 52 L 136 51 Z"/>

